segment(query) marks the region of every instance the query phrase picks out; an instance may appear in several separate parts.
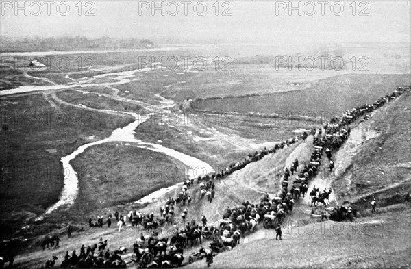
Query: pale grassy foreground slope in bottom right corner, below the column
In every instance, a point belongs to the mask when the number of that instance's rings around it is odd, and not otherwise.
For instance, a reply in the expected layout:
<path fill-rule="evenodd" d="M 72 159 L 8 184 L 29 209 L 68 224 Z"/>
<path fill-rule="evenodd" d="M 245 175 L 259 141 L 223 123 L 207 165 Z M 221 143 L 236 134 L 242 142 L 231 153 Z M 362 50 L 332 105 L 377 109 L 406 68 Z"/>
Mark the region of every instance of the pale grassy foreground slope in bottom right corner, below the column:
<path fill-rule="evenodd" d="M 401 214 L 401 218 L 398 218 Z M 409 268 L 411 209 L 360 222 L 283 227 L 283 240 L 261 228 L 249 244 L 214 257 L 213 268 Z M 186 266 L 203 268 L 205 261 Z"/>

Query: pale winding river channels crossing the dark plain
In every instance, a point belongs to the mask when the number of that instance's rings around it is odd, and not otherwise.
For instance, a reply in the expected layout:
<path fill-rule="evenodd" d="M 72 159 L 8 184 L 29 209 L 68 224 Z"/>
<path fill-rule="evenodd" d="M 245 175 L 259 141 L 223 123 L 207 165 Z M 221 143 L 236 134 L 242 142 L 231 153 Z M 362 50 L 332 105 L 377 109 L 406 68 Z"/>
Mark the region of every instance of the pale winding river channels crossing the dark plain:
<path fill-rule="evenodd" d="M 153 70 L 160 69 L 160 68 L 162 68 L 161 65 L 154 64 L 154 66 L 151 68 L 134 69 L 131 71 L 120 71 L 118 73 L 105 73 L 105 74 L 95 75 L 94 77 L 88 78 L 85 81 L 83 80 L 76 81 L 75 84 L 71 84 L 71 85 L 55 84 L 55 85 L 50 85 L 50 86 L 21 86 L 21 87 L 11 89 L 11 90 L 3 90 L 0 92 L 0 96 L 7 96 L 11 94 L 18 94 L 18 93 L 24 93 L 24 92 L 62 90 L 62 89 L 74 88 L 74 87 L 113 86 L 113 85 L 119 85 L 119 84 L 126 84 L 132 81 L 132 78 L 136 76 L 135 73 L 153 71 Z M 96 79 L 101 79 L 103 77 L 110 77 L 110 82 L 92 83 Z M 173 101 L 169 99 L 165 99 L 164 97 L 161 97 L 160 94 L 156 94 L 155 97 L 162 99 L 160 103 L 163 103 L 164 105 L 152 106 L 152 105 L 147 104 L 147 107 L 145 108 L 152 111 L 153 107 L 155 107 L 155 110 L 159 112 L 167 112 L 166 110 L 164 110 L 164 108 L 173 107 L 175 105 Z M 64 187 L 63 187 L 62 193 L 60 194 L 59 201 L 55 203 L 54 205 L 51 205 L 51 207 L 47 209 L 46 214 L 50 214 L 51 212 L 53 212 L 55 209 L 58 209 L 62 205 L 72 205 L 75 202 L 77 195 L 78 195 L 79 179 L 77 178 L 77 172 L 75 172 L 70 162 L 73 159 L 75 159 L 77 155 L 83 153 L 90 146 L 97 146 L 99 144 L 103 144 L 106 142 L 132 142 L 132 143 L 135 143 L 136 146 L 138 146 L 139 148 L 148 149 L 150 151 L 155 151 L 159 153 L 164 153 L 165 155 L 168 155 L 170 157 L 173 157 L 179 160 L 179 162 L 182 162 L 183 164 L 188 166 L 187 177 L 190 179 L 194 177 L 198 177 L 199 175 L 205 175 L 210 172 L 214 172 L 213 168 L 209 164 L 201 161 L 200 159 L 186 155 L 179 151 L 175 151 L 174 149 L 166 148 L 165 146 L 162 146 L 160 144 L 147 143 L 147 142 L 143 142 L 141 140 L 134 138 L 135 129 L 138 127 L 138 125 L 140 125 L 141 123 L 144 123 L 149 118 L 149 116 L 153 114 L 147 114 L 147 116 L 142 116 L 142 115 L 132 113 L 132 112 L 122 112 L 122 111 L 113 111 L 113 110 L 100 110 L 100 111 L 129 114 L 133 116 L 135 120 L 134 122 L 130 123 L 129 125 L 125 127 L 115 129 L 112 132 L 111 136 L 109 136 L 108 138 L 79 146 L 79 148 L 73 151 L 73 153 L 61 158 L 62 167 L 64 169 Z M 176 185 L 172 185 L 167 188 L 162 188 L 160 190 L 152 192 L 151 194 L 136 201 L 136 203 L 151 203 L 157 200 L 158 198 L 164 196 L 166 192 L 169 192 L 170 190 L 173 190 L 179 187 L 179 185 L 182 185 L 182 183 L 178 183 Z"/>

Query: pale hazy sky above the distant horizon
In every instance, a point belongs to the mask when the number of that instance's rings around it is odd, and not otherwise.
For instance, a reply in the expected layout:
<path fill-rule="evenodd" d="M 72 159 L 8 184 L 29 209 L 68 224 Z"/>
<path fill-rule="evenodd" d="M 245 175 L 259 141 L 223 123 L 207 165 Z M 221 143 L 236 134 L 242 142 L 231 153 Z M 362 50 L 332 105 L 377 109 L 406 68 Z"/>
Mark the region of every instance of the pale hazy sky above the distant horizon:
<path fill-rule="evenodd" d="M 155 42 L 311 43 L 410 42 L 411 33 L 410 1 L 356 1 L 354 4 L 353 1 L 323 1 L 323 5 L 320 1 L 292 1 L 295 7 L 301 6 L 296 10 L 289 9 L 289 1 L 219 1 L 218 14 L 214 0 L 191 3 L 82 1 L 81 10 L 79 5 L 76 6 L 78 1 L 50 1 L 50 14 L 47 14 L 44 1 L 19 1 L 23 7 L 21 10 L 16 10 L 15 1 L 0 2 L 1 36 L 110 36 L 149 38 Z M 164 6 L 164 16 L 161 10 L 153 10 L 153 3 L 158 7 Z M 207 10 L 200 16 L 203 3 Z M 66 6 L 70 10 L 63 16 Z M 340 11 L 341 6 L 343 11 Z M 176 7 L 179 12 L 172 16 Z M 90 9 L 94 15 L 85 16 Z M 222 16 L 227 9 L 231 15 Z M 299 10 L 301 16 L 297 14 Z M 366 16 L 359 16 L 360 12 Z"/>

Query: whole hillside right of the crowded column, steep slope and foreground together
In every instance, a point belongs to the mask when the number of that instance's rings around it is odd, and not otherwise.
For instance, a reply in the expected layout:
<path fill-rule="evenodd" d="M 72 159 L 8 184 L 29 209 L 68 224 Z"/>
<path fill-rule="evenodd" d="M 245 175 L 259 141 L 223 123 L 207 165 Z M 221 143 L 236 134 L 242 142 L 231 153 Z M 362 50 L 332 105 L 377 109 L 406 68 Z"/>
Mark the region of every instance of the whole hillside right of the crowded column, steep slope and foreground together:
<path fill-rule="evenodd" d="M 214 257 L 213 268 L 409 268 L 411 208 L 403 204 L 402 194 L 411 190 L 410 99 L 410 93 L 404 94 L 369 120 L 360 120 L 334 156 L 336 170 L 310 182 L 309 190 L 331 186 L 338 204 L 355 202 L 360 218 L 315 222 L 303 199 L 282 227 L 284 240 L 275 241 L 275 231 L 261 227 L 246 244 Z M 374 196 L 384 208 L 371 215 Z"/>

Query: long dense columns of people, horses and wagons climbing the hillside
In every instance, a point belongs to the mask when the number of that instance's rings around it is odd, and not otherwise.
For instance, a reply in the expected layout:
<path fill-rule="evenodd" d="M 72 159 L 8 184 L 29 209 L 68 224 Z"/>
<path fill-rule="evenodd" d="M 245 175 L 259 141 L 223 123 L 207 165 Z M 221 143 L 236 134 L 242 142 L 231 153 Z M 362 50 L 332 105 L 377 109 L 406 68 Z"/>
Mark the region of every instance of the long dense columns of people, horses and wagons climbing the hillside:
<path fill-rule="evenodd" d="M 212 242 L 210 242 L 210 248 L 200 248 L 199 253 L 192 253 L 189 257 L 189 262 L 205 257 L 207 265 L 210 266 L 210 264 L 212 264 L 212 257 L 216 255 L 216 253 L 229 251 L 240 244 L 240 238 L 256 231 L 257 225 L 261 222 L 263 222 L 266 229 L 270 227 L 275 228 L 277 232 L 276 239 L 279 238 L 281 240 L 281 224 L 286 215 L 292 212 L 295 200 L 307 194 L 310 179 L 315 177 L 319 172 L 323 151 L 325 151 L 325 155 L 329 160 L 329 170 L 332 171 L 334 168 L 332 151 L 338 150 L 349 137 L 351 131 L 349 124 L 362 116 L 364 116 L 364 119 L 369 118 L 369 114 L 373 110 L 381 107 L 391 99 L 399 97 L 399 95 L 406 91 L 410 91 L 410 86 L 401 86 L 392 94 L 387 94 L 386 97 L 378 99 L 371 105 L 366 104 L 356 107 L 351 111 L 345 112 L 338 118 L 332 118 L 330 123 L 324 125 L 324 135 L 322 129 L 318 131 L 313 129 L 311 134 L 314 136 L 314 152 L 310 157 L 310 162 L 304 166 L 300 166 L 298 159 L 295 159 L 290 168 L 284 170 L 281 192 L 272 199 L 269 198 L 269 194 L 264 194 L 258 203 L 244 201 L 241 205 L 227 207 L 218 225 L 208 225 L 206 216 L 201 217 L 201 225 L 195 220 L 186 222 L 188 209 L 182 208 L 192 203 L 192 198 L 190 194 L 188 194 L 188 188 L 194 184 L 194 179 L 184 181 L 181 192 L 179 192 L 175 198 L 169 197 L 167 199 L 166 203 L 160 207 L 160 214 L 158 214 L 158 216 L 155 215 L 154 212 L 142 214 L 132 211 L 124 216 L 116 212 L 114 217 L 117 221 L 119 232 L 124 229 L 127 219 L 129 223 L 131 223 L 132 228 L 142 225 L 144 229 L 150 231 L 149 235 L 141 234 L 140 238 L 134 243 L 132 261 L 138 264 L 140 268 L 172 268 L 181 266 L 184 261 L 184 248 L 200 244 L 201 238 L 203 238 L 203 240 L 212 240 Z M 256 162 L 269 153 L 275 153 L 278 149 L 284 149 L 284 147 L 294 144 L 300 139 L 305 141 L 307 137 L 308 134 L 303 133 L 299 137 L 276 144 L 273 149 L 264 148 L 261 151 L 249 154 L 245 159 L 231 164 L 223 170 L 198 177 L 197 181 L 200 187 L 199 201 L 203 200 L 206 196 L 208 202 L 212 203 L 216 195 L 215 180 L 223 179 L 236 170 L 244 168 L 247 164 Z M 297 173 L 296 178 L 292 182 L 291 188 L 288 188 L 288 179 L 290 175 L 294 175 L 295 173 Z M 311 205 L 327 205 L 331 193 L 332 190 L 320 191 L 319 188 L 315 188 L 314 186 L 310 192 L 310 198 L 312 198 Z M 174 216 L 176 206 L 179 207 L 182 212 L 181 217 L 184 227 L 175 231 L 175 233 L 171 235 L 170 240 L 169 238 L 159 238 L 158 233 L 155 232 L 158 227 L 166 223 L 173 224 L 177 221 Z M 336 207 L 330 214 L 330 218 L 333 220 L 345 220 L 352 218 L 355 214 L 356 212 L 352 208 Z M 111 225 L 111 218 L 112 216 L 108 216 L 108 227 Z M 89 220 L 89 225 L 90 227 L 102 227 L 103 218 L 99 217 L 97 222 Z M 100 241 L 99 244 L 103 243 Z M 64 257 L 63 264 L 77 264 L 78 267 L 81 267 L 86 263 L 86 259 L 88 259 L 87 265 L 90 268 L 93 266 L 100 266 L 101 268 L 104 268 L 103 266 L 112 266 L 110 268 L 121 268 L 118 266 L 125 266 L 125 262 L 121 259 L 121 253 L 123 253 L 125 249 L 121 248 L 111 254 L 107 250 L 104 253 L 105 246 L 101 251 L 99 244 L 90 247 L 90 251 L 84 252 L 81 250 L 81 258 L 74 255 L 75 253 L 69 257 L 67 253 L 66 257 Z M 87 248 L 87 250 L 89 250 L 89 248 Z M 95 253 L 96 250 L 97 253 Z M 74 259 L 73 256 L 75 257 Z M 47 262 L 49 262 L 49 264 L 53 263 L 54 258 L 57 259 L 57 257 L 53 257 L 52 260 Z"/>

